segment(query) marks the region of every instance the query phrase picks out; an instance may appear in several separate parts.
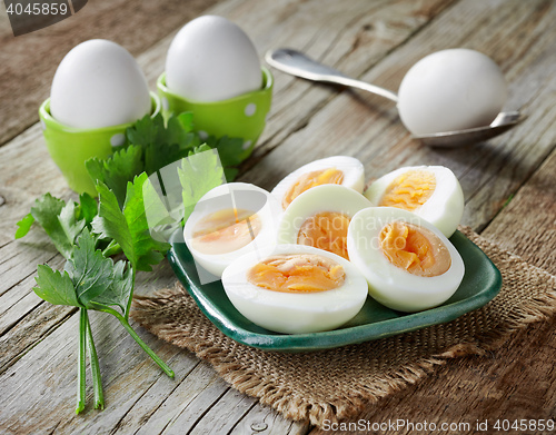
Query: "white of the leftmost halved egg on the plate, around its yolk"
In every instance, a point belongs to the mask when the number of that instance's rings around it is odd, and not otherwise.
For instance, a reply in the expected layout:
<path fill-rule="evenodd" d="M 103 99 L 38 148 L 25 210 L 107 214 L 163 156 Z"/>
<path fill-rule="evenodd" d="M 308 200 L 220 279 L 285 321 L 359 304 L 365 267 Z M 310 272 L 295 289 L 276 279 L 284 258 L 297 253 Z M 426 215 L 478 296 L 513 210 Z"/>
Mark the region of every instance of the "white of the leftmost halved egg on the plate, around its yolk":
<path fill-rule="evenodd" d="M 196 224 L 208 215 L 224 210 L 245 209 L 255 211 L 260 219 L 258 235 L 246 246 L 224 254 L 205 254 L 191 244 Z M 195 206 L 186 221 L 183 238 L 195 261 L 210 274 L 220 277 L 224 269 L 238 256 L 276 245 L 277 217 L 281 209 L 268 191 L 245 182 L 229 182 L 207 192 Z"/>

